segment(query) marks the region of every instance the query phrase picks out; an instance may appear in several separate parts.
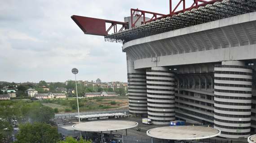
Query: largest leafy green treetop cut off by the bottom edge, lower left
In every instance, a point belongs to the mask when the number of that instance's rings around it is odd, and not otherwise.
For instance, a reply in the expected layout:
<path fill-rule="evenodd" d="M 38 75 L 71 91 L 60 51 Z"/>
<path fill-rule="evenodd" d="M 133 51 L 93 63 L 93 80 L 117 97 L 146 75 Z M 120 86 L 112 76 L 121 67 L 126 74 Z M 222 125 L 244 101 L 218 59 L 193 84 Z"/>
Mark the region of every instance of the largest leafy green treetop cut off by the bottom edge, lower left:
<path fill-rule="evenodd" d="M 19 129 L 14 143 L 56 143 L 61 137 L 56 128 L 46 123 L 26 123 L 20 125 Z"/>

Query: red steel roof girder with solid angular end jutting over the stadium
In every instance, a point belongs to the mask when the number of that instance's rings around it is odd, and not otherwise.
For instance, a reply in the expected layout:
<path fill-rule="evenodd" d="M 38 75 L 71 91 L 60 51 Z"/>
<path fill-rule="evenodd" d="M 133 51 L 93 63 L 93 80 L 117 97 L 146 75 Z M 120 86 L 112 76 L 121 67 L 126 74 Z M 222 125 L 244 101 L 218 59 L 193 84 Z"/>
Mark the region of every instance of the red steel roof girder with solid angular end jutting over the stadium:
<path fill-rule="evenodd" d="M 216 1 L 222 0 L 194 0 L 194 3 L 189 7 L 185 8 L 185 3 L 188 0 L 179 0 L 179 3 L 172 9 L 172 0 L 169 0 L 170 3 L 170 13 L 169 14 L 161 14 L 161 13 L 153 13 L 149 11 L 144 11 L 140 9 L 133 9 L 131 8 L 131 27 L 134 27 L 140 17 L 143 17 L 143 22 L 150 22 L 156 19 L 161 19 L 164 17 L 172 16 L 181 12 L 185 12 L 186 10 L 191 10 L 192 8 L 198 8 L 199 6 L 205 6 L 206 4 L 213 4 Z M 190 0 L 191 1 L 191 0 Z M 180 11 L 176 11 L 180 4 L 183 4 L 183 9 Z M 199 4 L 201 3 L 201 4 Z M 151 14 L 152 17 L 149 21 L 145 20 L 145 14 Z M 133 19 L 133 16 L 137 16 L 136 19 Z M 81 17 L 73 15 L 71 16 L 73 21 L 82 29 L 84 34 L 92 34 L 92 35 L 99 35 L 99 36 L 107 36 L 110 29 L 114 29 L 114 33 L 117 33 L 123 29 L 128 29 L 127 22 L 119 22 L 119 21 L 110 21 L 105 19 L 98 19 L 98 18 L 91 18 L 91 17 Z M 134 21 L 133 21 L 134 20 Z M 106 23 L 110 23 L 110 27 L 106 29 Z M 122 27 L 118 30 L 117 25 L 121 25 Z"/>

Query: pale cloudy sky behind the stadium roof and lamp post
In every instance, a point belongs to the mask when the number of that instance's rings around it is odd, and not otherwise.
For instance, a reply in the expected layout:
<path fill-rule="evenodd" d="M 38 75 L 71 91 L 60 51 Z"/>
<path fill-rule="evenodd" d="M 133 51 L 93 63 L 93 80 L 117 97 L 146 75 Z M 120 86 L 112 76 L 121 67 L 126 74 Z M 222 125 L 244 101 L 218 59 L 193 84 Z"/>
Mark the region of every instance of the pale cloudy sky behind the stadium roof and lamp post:
<path fill-rule="evenodd" d="M 124 21 L 130 8 L 168 14 L 169 1 L 0 0 L 0 81 L 64 82 L 76 67 L 78 80 L 127 82 L 122 44 L 85 35 L 71 16 Z"/>

